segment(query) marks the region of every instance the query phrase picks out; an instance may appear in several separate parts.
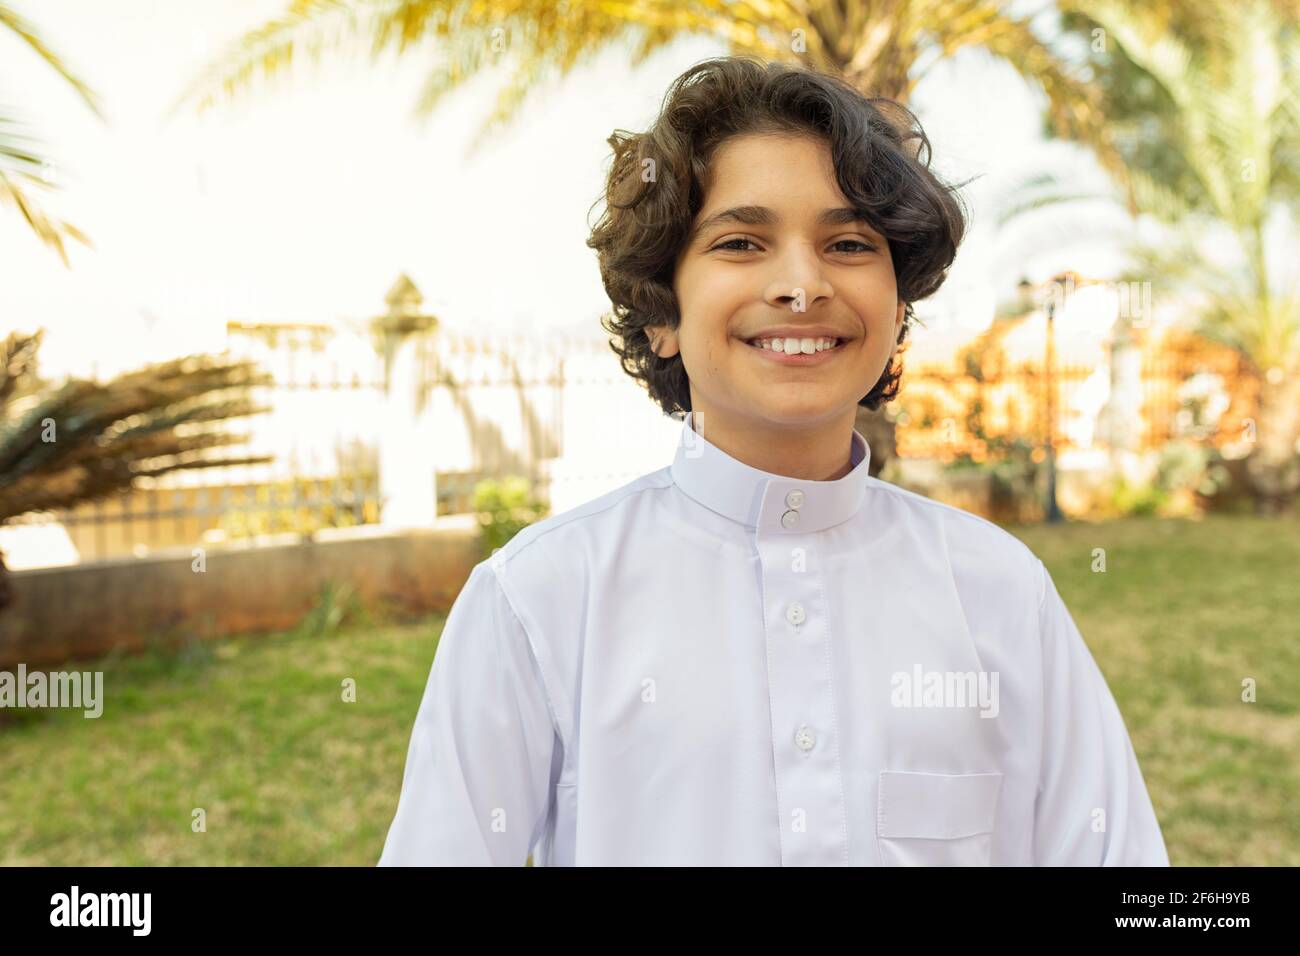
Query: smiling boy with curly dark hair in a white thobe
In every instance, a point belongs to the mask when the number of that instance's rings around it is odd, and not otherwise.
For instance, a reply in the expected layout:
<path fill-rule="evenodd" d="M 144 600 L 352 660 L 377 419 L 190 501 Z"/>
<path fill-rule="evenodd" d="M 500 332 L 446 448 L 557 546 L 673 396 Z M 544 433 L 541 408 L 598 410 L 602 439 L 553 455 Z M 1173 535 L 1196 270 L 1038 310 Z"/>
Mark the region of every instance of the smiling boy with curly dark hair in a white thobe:
<path fill-rule="evenodd" d="M 681 444 L 473 568 L 381 865 L 1167 865 L 1043 563 L 868 475 L 965 229 L 884 108 L 727 57 L 611 138 L 606 329 Z"/>

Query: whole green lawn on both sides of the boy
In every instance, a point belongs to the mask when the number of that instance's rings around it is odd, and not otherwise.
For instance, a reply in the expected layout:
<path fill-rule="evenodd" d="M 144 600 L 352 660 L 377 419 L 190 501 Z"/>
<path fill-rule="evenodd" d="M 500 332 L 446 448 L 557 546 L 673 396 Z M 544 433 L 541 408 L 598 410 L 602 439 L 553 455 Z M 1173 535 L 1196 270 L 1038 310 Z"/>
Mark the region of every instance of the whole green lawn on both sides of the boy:
<path fill-rule="evenodd" d="M 1106 674 L 1171 861 L 1300 864 L 1300 522 L 1011 531 Z M 439 627 L 66 665 L 104 671 L 104 715 L 0 714 L 0 864 L 373 865 Z"/>

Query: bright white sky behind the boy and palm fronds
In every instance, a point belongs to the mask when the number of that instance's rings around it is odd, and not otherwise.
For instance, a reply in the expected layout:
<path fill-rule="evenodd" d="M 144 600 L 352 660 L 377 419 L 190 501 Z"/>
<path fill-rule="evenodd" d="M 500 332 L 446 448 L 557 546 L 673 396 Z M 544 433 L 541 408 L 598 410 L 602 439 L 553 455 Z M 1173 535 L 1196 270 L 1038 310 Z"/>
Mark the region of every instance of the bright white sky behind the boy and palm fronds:
<path fill-rule="evenodd" d="M 36 198 L 96 246 L 72 243 L 66 269 L 0 208 L 0 333 L 46 326 L 49 373 L 218 349 L 228 319 L 364 320 L 403 271 L 452 326 L 599 334 L 608 300 L 585 239 L 606 138 L 642 129 L 677 74 L 725 52 L 688 38 L 629 72 L 627 52 L 610 49 L 536 91 L 471 156 L 506 70 L 480 75 L 424 126 L 412 107 L 425 55 L 330 60 L 164 124 L 195 70 L 285 0 L 8 1 L 100 94 L 109 120 L 0 33 L 0 101 L 32 124 L 57 166 L 60 190 Z M 976 230 L 936 302 L 918 307 L 935 328 L 987 324 L 993 286 L 1005 295 L 1020 269 L 1100 274 L 1112 261 L 1097 243 L 1035 258 L 1027 250 L 1052 243 L 1032 222 L 1002 246 L 980 224 L 982 196 L 1008 169 L 1044 157 L 1058 172 L 1078 166 L 1076 178 L 1096 169 L 1076 147 L 1041 144 L 1039 96 L 979 51 L 940 64 L 916 92 L 939 172 L 984 174 L 966 190 Z"/>

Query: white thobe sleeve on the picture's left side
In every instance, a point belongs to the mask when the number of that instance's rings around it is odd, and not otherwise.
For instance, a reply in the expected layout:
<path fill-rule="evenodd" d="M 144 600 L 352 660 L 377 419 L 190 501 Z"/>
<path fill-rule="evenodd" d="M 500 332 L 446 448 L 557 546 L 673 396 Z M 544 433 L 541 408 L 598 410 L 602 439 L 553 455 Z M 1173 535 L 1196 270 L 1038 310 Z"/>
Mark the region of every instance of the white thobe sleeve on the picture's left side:
<path fill-rule="evenodd" d="M 490 562 L 452 604 L 380 866 L 523 866 L 563 753 L 528 635 Z"/>

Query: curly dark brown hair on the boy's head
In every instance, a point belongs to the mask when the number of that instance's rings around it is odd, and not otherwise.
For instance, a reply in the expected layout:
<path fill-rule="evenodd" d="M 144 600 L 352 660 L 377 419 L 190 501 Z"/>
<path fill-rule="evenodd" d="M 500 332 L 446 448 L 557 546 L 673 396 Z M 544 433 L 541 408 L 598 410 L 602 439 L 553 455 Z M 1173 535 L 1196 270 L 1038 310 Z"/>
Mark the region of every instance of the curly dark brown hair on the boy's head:
<path fill-rule="evenodd" d="M 942 285 L 968 213 L 958 186 L 931 172 L 930 139 L 910 109 L 803 66 L 753 57 L 705 60 L 673 81 L 649 130 L 615 130 L 608 138 L 614 163 L 606 208 L 586 245 L 597 252 L 614 304 L 601 320 L 615 337 L 610 347 L 667 415 L 690 411 L 681 352 L 659 358 L 646 329 L 675 329 L 681 321 L 672 281 L 703 207 L 710 157 L 727 139 L 748 133 L 807 133 L 826 140 L 840 191 L 889 242 L 906 306 L 900 349 L 858 402 L 875 411 L 898 394 L 911 303 Z M 655 176 L 644 177 L 646 168 Z"/>

